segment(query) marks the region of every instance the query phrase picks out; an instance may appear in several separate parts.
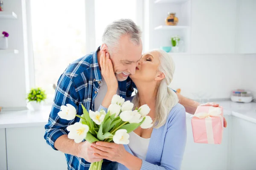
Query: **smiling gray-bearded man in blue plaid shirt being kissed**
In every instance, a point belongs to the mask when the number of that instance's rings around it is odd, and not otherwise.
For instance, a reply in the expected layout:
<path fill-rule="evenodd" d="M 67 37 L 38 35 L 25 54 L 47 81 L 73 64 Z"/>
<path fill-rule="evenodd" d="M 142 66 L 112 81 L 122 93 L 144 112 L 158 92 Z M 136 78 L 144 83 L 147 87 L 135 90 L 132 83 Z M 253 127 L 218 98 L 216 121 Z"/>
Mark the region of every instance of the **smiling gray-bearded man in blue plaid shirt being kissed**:
<path fill-rule="evenodd" d="M 110 56 L 116 75 L 114 81 L 118 81 L 117 91 L 111 91 L 110 89 L 115 88 L 109 88 L 116 84 L 112 83 L 113 79 L 102 77 L 99 65 L 101 54 Z M 54 150 L 65 153 L 69 170 L 88 170 L 91 162 L 101 159 L 93 156 L 89 142 L 75 143 L 68 139 L 67 126 L 79 122 L 79 118 L 71 121 L 61 119 L 57 114 L 61 105 L 71 104 L 77 109 L 77 113 L 81 114 L 81 104 L 87 110 L 95 111 L 101 110 L 102 107 L 108 108 L 111 104 L 111 98 L 108 99 L 108 96 L 131 96 L 135 87 L 128 76 L 135 73 L 141 54 L 141 31 L 138 26 L 132 20 L 117 20 L 105 28 L 102 45 L 96 51 L 72 62 L 58 79 L 49 122 L 45 125 L 44 139 Z M 180 94 L 177 96 L 186 112 L 194 114 L 200 104 Z M 218 106 L 211 103 L 206 105 Z M 224 120 L 224 126 L 226 125 Z M 102 169 L 116 169 L 116 164 L 104 160 Z"/>

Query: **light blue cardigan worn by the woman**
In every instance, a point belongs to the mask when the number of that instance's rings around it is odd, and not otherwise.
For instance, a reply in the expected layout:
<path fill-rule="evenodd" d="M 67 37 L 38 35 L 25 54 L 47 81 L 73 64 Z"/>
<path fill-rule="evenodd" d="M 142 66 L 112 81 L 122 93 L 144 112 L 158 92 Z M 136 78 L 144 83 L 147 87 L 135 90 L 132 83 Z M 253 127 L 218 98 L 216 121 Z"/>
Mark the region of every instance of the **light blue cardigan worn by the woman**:
<path fill-rule="evenodd" d="M 166 124 L 153 129 L 146 160 L 142 161 L 141 170 L 180 170 L 185 145 L 186 111 L 178 103 L 170 111 Z M 134 155 L 128 145 L 124 146 L 125 150 Z M 128 170 L 128 168 L 118 164 L 118 170 Z"/>

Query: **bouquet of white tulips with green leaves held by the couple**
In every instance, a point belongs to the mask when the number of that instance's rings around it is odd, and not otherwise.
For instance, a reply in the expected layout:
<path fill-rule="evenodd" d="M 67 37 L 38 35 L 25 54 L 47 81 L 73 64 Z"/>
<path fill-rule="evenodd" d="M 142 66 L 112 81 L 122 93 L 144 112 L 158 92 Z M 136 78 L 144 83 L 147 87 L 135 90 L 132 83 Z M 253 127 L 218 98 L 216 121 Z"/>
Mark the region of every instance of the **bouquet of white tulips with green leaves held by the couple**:
<path fill-rule="evenodd" d="M 147 114 L 150 111 L 148 105 L 142 105 L 134 111 L 134 104 L 126 101 L 118 95 L 114 95 L 108 113 L 101 111 L 88 111 L 83 108 L 81 116 L 76 114 L 76 108 L 70 104 L 61 106 L 58 116 L 61 119 L 72 120 L 79 117 L 80 121 L 67 127 L 68 138 L 76 143 L 84 139 L 90 143 L 96 141 L 115 142 L 116 144 L 128 144 L 131 131 L 141 127 L 147 129 L 153 126 L 152 119 Z M 101 170 L 102 161 L 94 162 L 89 170 Z"/>

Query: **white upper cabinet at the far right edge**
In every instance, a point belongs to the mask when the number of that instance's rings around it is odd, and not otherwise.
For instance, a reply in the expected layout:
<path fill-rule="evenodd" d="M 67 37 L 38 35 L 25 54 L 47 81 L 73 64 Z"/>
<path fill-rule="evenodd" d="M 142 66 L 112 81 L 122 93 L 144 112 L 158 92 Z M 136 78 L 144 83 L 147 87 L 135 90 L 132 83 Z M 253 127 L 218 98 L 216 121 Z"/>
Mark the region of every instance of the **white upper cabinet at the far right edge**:
<path fill-rule="evenodd" d="M 256 53 L 256 0 L 238 0 L 237 49 L 241 54 Z"/>

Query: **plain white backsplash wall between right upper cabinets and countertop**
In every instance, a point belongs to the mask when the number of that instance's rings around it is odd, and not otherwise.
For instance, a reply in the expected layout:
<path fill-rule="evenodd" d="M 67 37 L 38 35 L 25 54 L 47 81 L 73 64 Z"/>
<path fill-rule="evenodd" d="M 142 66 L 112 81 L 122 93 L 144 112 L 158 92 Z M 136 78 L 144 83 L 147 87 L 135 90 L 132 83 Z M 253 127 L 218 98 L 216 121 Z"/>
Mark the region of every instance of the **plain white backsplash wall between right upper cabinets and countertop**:
<path fill-rule="evenodd" d="M 227 99 L 232 90 L 244 88 L 256 96 L 256 54 L 176 55 L 170 85 L 191 99 Z M 198 96 L 197 94 L 201 94 Z"/>

